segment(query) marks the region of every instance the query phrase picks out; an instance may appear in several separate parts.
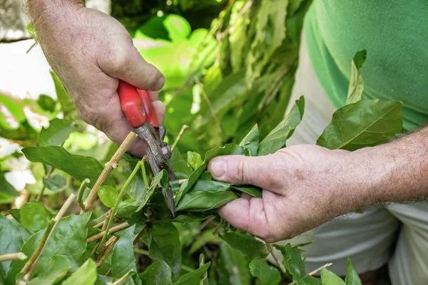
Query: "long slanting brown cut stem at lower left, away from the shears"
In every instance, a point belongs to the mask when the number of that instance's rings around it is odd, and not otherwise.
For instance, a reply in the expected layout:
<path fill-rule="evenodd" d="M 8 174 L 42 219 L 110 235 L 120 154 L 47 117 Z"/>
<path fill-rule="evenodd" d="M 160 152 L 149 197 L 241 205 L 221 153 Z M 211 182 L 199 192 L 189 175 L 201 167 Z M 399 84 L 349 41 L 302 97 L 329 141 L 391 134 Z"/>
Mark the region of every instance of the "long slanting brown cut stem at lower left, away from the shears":
<path fill-rule="evenodd" d="M 41 241 L 39 243 L 39 246 L 36 248 L 36 251 L 31 256 L 29 261 L 27 261 L 24 268 L 21 270 L 21 273 L 24 275 L 24 279 L 26 279 L 26 280 L 31 279 L 31 274 L 33 274 L 33 271 L 36 268 L 37 261 L 39 261 L 39 258 L 41 256 L 41 252 L 43 252 L 44 248 L 46 247 L 46 244 L 49 242 L 49 239 L 51 238 L 52 234 L 54 233 L 56 226 L 58 226 L 59 221 L 63 217 L 63 214 L 66 213 L 68 207 L 70 207 L 71 203 L 73 203 L 75 198 L 76 198 L 76 195 L 71 194 L 70 197 L 68 197 L 66 202 L 63 204 L 61 209 L 59 209 L 59 212 L 58 212 L 58 214 L 56 214 L 55 219 L 53 219 L 49 223 L 48 227 L 46 228 L 46 232 L 44 232 L 43 237 L 41 237 Z"/>

